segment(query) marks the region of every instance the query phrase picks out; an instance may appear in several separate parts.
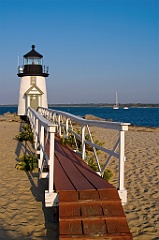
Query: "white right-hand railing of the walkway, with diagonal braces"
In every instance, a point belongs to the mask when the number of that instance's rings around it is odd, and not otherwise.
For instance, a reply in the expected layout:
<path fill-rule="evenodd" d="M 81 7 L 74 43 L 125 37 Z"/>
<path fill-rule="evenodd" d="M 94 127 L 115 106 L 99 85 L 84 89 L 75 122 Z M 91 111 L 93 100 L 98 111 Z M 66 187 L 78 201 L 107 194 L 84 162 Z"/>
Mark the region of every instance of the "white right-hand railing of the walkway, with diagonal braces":
<path fill-rule="evenodd" d="M 109 122 L 109 121 L 98 121 L 98 120 L 86 120 L 81 117 L 75 116 L 70 113 L 66 113 L 63 111 L 57 111 L 47 108 L 38 108 L 38 112 L 43 115 L 46 119 L 57 124 L 57 131 L 60 136 L 64 135 L 64 137 L 68 137 L 69 133 L 73 134 L 75 144 L 78 150 L 76 139 L 81 141 L 82 150 L 81 157 L 84 160 L 86 158 L 86 144 L 90 145 L 94 151 L 94 157 L 98 166 L 98 174 L 103 175 L 105 169 L 108 166 L 112 157 L 118 159 L 119 165 L 119 175 L 118 175 L 118 193 L 122 200 L 122 204 L 127 203 L 127 190 L 124 188 L 124 162 L 125 162 L 125 131 L 128 131 L 129 123 L 120 123 L 120 122 Z M 80 126 L 79 134 L 77 130 L 73 129 L 73 123 L 78 123 Z M 93 142 L 93 138 L 90 132 L 89 127 L 99 127 L 105 129 L 112 129 L 119 132 L 117 140 L 114 144 L 112 150 L 102 147 Z M 86 130 L 89 135 L 89 141 L 86 137 Z M 118 151 L 117 151 L 118 149 Z M 108 155 L 104 165 L 101 167 L 100 161 L 98 160 L 96 150 L 103 151 Z"/>

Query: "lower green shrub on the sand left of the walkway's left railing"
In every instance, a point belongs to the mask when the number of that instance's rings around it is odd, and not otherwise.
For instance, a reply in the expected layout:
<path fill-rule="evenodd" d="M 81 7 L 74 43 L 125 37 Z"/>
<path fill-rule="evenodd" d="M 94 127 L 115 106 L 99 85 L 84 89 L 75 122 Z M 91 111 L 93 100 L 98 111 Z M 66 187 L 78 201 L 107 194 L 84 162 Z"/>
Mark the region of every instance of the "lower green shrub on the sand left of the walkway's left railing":
<path fill-rule="evenodd" d="M 19 170 L 33 171 L 38 167 L 38 157 L 37 155 L 23 155 L 19 158 L 19 163 L 15 166 Z"/>

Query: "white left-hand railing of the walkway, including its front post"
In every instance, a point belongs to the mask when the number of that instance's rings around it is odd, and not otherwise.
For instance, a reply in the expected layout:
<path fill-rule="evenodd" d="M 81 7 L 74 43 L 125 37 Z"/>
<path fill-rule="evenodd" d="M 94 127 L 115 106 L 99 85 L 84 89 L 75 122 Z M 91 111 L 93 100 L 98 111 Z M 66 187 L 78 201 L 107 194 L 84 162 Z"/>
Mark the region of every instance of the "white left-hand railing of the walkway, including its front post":
<path fill-rule="evenodd" d="M 34 134 L 34 147 L 39 156 L 38 168 L 40 177 L 48 177 L 48 190 L 45 191 L 45 205 L 58 204 L 57 193 L 54 192 L 54 136 L 57 126 L 44 118 L 32 108 L 27 109 L 27 116 Z M 49 147 L 47 146 L 49 142 Z M 45 171 L 47 168 L 47 171 Z M 48 176 L 47 176 L 48 175 Z"/>

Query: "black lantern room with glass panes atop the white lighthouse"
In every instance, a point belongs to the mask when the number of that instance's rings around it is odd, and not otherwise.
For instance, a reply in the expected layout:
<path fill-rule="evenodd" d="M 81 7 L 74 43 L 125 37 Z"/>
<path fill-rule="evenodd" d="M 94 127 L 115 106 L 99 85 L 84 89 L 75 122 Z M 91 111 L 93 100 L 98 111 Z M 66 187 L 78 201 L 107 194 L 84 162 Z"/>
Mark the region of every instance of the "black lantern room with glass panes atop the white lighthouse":
<path fill-rule="evenodd" d="M 23 56 L 23 64 L 22 67 L 18 67 L 18 77 L 49 76 L 48 66 L 43 66 L 43 56 L 35 51 L 35 45 L 32 45 L 32 50 Z"/>

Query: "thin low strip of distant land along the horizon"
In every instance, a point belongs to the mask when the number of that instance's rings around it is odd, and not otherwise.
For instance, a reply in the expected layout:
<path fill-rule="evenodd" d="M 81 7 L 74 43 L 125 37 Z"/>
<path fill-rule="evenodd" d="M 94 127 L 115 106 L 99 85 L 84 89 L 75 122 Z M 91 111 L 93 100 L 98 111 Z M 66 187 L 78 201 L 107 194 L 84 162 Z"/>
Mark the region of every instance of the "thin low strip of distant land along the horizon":
<path fill-rule="evenodd" d="M 69 104 L 69 103 L 57 103 L 48 104 L 49 107 L 113 107 L 113 103 L 79 103 L 79 104 Z M 159 103 L 124 103 L 119 104 L 119 107 L 128 108 L 159 108 Z M 18 104 L 0 104 L 0 107 L 18 107 Z"/>

